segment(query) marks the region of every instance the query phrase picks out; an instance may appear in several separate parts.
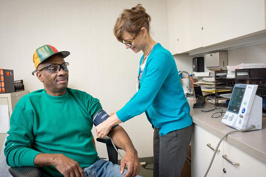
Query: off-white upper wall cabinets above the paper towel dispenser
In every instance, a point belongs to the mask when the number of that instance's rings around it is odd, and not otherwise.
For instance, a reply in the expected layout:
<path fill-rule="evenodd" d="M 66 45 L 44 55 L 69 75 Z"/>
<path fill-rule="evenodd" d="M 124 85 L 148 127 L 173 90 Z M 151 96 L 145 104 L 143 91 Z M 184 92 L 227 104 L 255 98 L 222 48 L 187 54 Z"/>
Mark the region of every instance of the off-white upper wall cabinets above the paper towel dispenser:
<path fill-rule="evenodd" d="M 167 0 L 167 3 L 169 28 L 176 26 L 176 30 L 169 30 L 170 48 L 174 44 L 179 54 L 206 51 L 266 33 L 266 0 Z"/>

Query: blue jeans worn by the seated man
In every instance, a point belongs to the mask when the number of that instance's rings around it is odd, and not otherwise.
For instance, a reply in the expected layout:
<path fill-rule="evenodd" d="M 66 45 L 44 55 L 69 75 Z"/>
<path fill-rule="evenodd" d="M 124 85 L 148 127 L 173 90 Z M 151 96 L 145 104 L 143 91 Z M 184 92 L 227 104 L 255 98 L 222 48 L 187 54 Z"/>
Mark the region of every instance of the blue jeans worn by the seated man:
<path fill-rule="evenodd" d="M 104 159 L 98 160 L 90 167 L 84 168 L 83 171 L 85 177 L 116 177 L 124 176 L 127 172 L 127 170 L 125 170 L 124 173 L 120 175 L 120 166 Z M 140 177 L 139 175 L 137 176 Z"/>

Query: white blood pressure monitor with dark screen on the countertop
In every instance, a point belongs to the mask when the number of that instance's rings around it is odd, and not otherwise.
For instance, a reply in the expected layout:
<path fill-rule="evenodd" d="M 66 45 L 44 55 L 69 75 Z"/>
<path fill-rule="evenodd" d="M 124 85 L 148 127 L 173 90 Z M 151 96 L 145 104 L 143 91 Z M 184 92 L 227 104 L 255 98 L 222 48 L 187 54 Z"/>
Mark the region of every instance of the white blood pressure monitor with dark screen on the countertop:
<path fill-rule="evenodd" d="M 262 98 L 256 95 L 258 85 L 235 84 L 222 122 L 237 130 L 251 125 L 260 130 L 262 124 Z"/>

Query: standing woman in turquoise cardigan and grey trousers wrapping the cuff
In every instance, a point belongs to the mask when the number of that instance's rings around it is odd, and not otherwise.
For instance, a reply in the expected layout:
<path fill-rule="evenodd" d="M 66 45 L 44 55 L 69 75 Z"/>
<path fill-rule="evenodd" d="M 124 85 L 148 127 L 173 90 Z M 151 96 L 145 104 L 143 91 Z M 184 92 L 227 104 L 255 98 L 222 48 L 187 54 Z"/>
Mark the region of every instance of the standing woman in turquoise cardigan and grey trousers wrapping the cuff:
<path fill-rule="evenodd" d="M 115 37 L 135 53 L 142 51 L 137 93 L 96 127 L 98 137 L 112 126 L 146 113 L 154 128 L 154 176 L 180 176 L 192 134 L 190 106 L 180 84 L 172 54 L 150 34 L 151 17 L 141 4 L 125 9 L 114 27 Z"/>

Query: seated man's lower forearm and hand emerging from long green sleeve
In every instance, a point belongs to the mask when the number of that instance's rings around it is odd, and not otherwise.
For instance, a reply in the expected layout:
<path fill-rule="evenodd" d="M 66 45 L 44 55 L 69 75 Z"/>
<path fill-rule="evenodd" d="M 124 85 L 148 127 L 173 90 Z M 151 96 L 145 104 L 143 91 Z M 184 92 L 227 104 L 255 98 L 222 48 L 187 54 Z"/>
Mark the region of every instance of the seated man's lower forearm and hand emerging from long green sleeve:
<path fill-rule="evenodd" d="M 37 154 L 34 164 L 38 167 L 53 165 L 65 177 L 84 177 L 79 163 L 63 154 Z"/>

